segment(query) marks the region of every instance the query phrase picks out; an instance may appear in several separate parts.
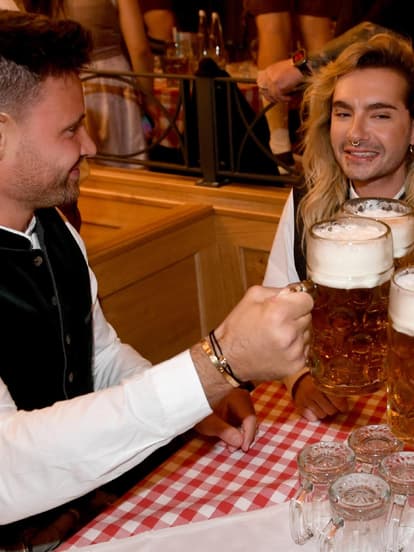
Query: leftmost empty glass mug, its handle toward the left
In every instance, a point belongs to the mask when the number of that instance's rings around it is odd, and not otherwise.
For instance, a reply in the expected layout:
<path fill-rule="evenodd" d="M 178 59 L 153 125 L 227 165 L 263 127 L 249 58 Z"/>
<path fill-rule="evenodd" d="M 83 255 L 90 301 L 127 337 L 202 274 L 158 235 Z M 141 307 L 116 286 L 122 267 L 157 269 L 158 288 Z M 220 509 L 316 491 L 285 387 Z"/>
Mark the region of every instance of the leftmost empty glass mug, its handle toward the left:
<path fill-rule="evenodd" d="M 329 485 L 353 471 L 354 465 L 355 455 L 345 443 L 320 441 L 299 452 L 300 487 L 289 503 L 290 533 L 296 544 L 304 544 L 326 525 Z"/>

